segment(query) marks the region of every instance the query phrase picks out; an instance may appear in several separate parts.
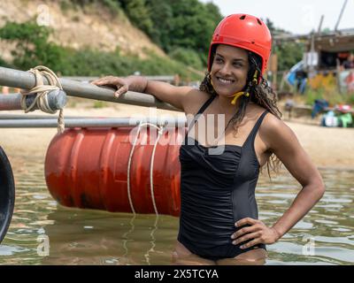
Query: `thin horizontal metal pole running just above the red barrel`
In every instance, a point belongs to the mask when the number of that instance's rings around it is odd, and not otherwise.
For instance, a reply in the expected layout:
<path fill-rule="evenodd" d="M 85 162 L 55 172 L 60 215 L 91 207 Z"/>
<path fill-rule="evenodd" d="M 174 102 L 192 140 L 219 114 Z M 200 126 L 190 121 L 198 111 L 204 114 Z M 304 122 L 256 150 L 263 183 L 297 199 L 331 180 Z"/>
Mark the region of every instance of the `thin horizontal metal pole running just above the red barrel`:
<path fill-rule="evenodd" d="M 157 126 L 186 126 L 187 119 L 171 118 L 104 118 L 104 119 L 65 119 L 65 128 L 73 127 L 121 127 L 138 126 L 150 123 Z M 0 128 L 46 128 L 57 127 L 57 119 L 0 119 Z"/>

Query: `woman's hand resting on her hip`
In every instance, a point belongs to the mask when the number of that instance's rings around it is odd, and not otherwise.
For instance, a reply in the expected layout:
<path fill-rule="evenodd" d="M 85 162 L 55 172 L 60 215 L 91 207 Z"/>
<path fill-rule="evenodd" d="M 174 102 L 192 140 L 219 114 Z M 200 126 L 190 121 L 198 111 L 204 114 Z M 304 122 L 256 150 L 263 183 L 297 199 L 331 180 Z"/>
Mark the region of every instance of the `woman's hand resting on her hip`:
<path fill-rule="evenodd" d="M 243 241 L 249 241 L 243 244 L 240 248 L 246 249 L 257 244 L 273 244 L 275 241 L 278 241 L 281 238 L 280 233 L 278 233 L 273 227 L 267 227 L 262 221 L 253 219 L 253 218 L 243 218 L 235 223 L 236 227 L 241 227 L 249 224 L 250 226 L 246 226 L 241 228 L 237 232 L 231 235 L 231 239 L 235 239 L 233 244 L 237 245 Z"/>

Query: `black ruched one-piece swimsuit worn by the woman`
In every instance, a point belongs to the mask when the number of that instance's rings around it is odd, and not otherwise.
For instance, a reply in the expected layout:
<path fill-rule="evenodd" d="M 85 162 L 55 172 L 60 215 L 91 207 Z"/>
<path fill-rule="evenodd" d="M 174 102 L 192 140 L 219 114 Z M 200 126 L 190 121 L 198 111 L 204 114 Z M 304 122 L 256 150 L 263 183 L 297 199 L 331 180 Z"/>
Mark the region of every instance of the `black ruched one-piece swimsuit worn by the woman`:
<path fill-rule="evenodd" d="M 214 97 L 204 103 L 189 129 Z M 264 111 L 259 117 L 242 146 L 226 144 L 222 146 L 221 154 L 210 154 L 210 149 L 218 147 L 204 147 L 188 136 L 189 131 L 186 134 L 180 148 L 181 216 L 178 241 L 192 253 L 218 260 L 238 256 L 255 247 L 266 249 L 264 244 L 240 249 L 247 241 L 234 245 L 231 239 L 231 234 L 240 229 L 235 227 L 236 221 L 258 218 L 255 188 L 259 163 L 254 140 L 266 113 Z"/>

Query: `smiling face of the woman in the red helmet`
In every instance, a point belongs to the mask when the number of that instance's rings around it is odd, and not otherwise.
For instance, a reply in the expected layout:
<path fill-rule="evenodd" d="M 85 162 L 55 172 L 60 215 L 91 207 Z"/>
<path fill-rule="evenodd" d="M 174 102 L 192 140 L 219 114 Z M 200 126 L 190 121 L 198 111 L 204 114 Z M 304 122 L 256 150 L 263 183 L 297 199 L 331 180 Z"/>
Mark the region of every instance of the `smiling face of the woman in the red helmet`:
<path fill-rule="evenodd" d="M 219 44 L 212 61 L 212 86 L 219 96 L 232 96 L 242 90 L 249 70 L 248 51 Z"/>

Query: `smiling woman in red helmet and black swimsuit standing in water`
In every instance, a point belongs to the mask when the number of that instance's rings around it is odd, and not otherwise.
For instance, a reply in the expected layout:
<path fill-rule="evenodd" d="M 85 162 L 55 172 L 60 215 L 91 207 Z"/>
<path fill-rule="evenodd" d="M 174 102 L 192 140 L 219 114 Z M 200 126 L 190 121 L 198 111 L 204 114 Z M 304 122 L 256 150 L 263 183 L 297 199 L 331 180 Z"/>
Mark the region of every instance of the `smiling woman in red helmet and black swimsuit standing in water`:
<path fill-rule="evenodd" d="M 215 29 L 208 73 L 199 90 L 137 76 L 94 81 L 97 86 L 117 86 L 116 96 L 128 89 L 149 93 L 195 116 L 180 149 L 181 217 L 175 264 L 263 264 L 265 245 L 278 241 L 324 194 L 318 170 L 281 121 L 273 91 L 262 77 L 271 42 L 263 21 L 234 14 Z M 220 114 L 224 118 L 220 123 L 201 119 Z M 215 135 L 223 121 L 227 121 L 225 131 Z M 199 133 L 197 137 L 192 130 Z M 211 136 L 217 139 L 210 142 Z M 268 165 L 281 161 L 303 186 L 272 227 L 258 220 L 254 197 L 259 169 L 267 161 Z"/>

